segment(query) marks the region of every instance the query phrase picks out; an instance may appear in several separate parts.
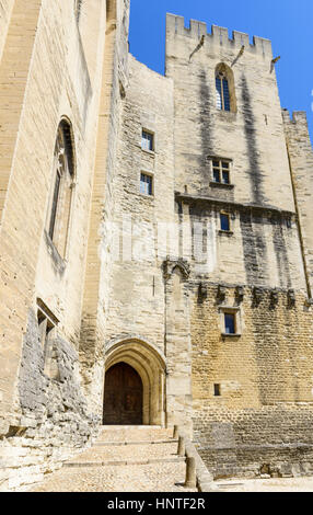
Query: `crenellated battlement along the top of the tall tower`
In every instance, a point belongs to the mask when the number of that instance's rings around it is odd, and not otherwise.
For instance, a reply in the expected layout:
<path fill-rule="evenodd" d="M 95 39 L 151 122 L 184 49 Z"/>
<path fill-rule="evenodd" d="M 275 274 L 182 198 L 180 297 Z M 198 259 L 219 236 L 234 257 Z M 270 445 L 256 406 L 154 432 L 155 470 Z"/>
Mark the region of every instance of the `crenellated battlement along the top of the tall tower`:
<path fill-rule="evenodd" d="M 185 26 L 185 19 L 175 14 L 166 13 L 166 35 L 186 36 L 194 39 L 206 39 L 213 44 L 230 48 L 241 48 L 243 45 L 247 50 L 273 57 L 271 42 L 264 37 L 253 36 L 253 44 L 250 43 L 248 34 L 233 31 L 232 38 L 229 37 L 229 31 L 218 25 L 211 26 L 208 32 L 207 24 L 197 20 L 190 20 L 189 27 Z"/>

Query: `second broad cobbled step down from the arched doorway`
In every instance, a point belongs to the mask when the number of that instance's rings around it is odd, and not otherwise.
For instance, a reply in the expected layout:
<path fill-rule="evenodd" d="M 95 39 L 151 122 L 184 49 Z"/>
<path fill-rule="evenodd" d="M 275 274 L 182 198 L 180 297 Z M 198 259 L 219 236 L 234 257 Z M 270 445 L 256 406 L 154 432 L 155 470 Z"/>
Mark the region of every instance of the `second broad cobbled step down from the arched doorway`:
<path fill-rule="evenodd" d="M 73 459 L 67 461 L 67 465 L 84 464 L 84 462 L 100 462 L 105 465 L 117 460 L 118 462 L 140 461 L 149 462 L 152 459 L 172 458 L 177 457 L 177 443 L 166 442 L 162 444 L 142 443 L 139 444 L 123 444 L 115 443 L 115 445 L 93 445 L 91 448 L 84 450 Z"/>

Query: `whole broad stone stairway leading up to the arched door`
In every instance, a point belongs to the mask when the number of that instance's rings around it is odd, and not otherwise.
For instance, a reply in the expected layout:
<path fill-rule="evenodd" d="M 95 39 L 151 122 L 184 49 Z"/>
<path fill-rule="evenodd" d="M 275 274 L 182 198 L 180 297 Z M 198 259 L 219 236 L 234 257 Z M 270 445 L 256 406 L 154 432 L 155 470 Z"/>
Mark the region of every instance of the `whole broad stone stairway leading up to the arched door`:
<path fill-rule="evenodd" d="M 97 440 L 33 487 L 33 492 L 196 492 L 173 430 L 103 426 Z"/>

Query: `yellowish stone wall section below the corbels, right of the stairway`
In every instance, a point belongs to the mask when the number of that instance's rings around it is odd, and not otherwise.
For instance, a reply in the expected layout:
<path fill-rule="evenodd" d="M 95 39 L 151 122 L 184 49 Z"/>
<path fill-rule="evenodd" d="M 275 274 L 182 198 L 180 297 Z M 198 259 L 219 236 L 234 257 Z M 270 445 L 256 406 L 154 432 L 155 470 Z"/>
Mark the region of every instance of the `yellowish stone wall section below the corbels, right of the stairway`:
<path fill-rule="evenodd" d="M 194 440 L 215 477 L 312 473 L 311 307 L 280 290 L 207 285 L 192 318 Z M 220 311 L 239 306 L 240 335 L 222 335 Z M 215 386 L 220 386 L 220 396 Z M 275 472 L 276 471 L 276 472 Z M 268 473 L 268 472 L 264 472 Z"/>

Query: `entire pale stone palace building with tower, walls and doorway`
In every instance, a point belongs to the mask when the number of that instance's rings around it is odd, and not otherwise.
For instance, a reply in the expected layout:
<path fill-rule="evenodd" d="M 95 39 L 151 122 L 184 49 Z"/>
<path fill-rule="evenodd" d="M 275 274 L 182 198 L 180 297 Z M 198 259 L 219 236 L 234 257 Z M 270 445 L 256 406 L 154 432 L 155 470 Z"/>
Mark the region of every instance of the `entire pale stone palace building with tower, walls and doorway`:
<path fill-rule="evenodd" d="M 1 7 L 1 488 L 101 424 L 312 473 L 313 152 L 270 42 L 167 14 L 161 76 L 128 0 Z"/>

